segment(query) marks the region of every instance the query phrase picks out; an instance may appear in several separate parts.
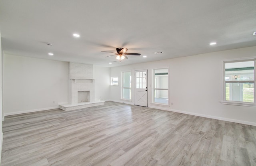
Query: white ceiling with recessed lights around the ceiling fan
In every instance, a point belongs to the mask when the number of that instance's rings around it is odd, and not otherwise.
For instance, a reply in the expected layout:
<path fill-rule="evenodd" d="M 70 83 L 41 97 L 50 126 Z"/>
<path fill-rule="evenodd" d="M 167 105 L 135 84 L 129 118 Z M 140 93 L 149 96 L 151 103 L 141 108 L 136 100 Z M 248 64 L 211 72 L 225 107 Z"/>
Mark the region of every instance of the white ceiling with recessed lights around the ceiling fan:
<path fill-rule="evenodd" d="M 255 7 L 256 0 L 0 0 L 2 50 L 114 67 L 255 46 Z M 115 57 L 100 51 L 116 47 L 141 56 L 110 65 Z"/>

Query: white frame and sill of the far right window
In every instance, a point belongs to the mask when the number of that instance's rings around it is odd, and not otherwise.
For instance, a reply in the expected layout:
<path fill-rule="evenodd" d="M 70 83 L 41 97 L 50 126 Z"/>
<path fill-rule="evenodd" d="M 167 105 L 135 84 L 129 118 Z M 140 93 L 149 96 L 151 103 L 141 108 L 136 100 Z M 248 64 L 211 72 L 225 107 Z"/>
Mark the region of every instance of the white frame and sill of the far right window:
<path fill-rule="evenodd" d="M 254 61 L 254 81 L 226 81 L 226 63 L 236 63 L 236 62 L 245 62 L 245 61 Z M 254 83 L 254 103 L 245 102 L 245 101 L 228 101 L 226 100 L 226 83 Z M 249 58 L 240 58 L 240 59 L 229 59 L 222 61 L 222 93 L 220 103 L 228 104 L 228 105 L 240 105 L 240 106 L 248 106 L 248 107 L 256 107 L 256 92 L 255 92 L 255 85 L 256 85 L 256 57 L 249 57 Z"/>

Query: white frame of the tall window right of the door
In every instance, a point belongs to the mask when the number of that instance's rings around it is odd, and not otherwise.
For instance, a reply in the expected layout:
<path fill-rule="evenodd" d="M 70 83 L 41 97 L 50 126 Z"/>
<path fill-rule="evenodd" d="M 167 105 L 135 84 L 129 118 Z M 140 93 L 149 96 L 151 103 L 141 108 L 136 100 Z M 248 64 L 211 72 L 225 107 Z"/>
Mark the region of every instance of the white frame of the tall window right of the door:
<path fill-rule="evenodd" d="M 155 70 L 160 70 L 160 69 L 168 69 L 168 89 L 155 88 L 155 80 L 156 80 Z M 153 85 L 152 85 L 152 104 L 170 107 L 170 68 L 169 67 L 154 68 L 154 69 L 152 69 L 152 76 L 153 76 L 152 77 L 152 82 L 153 82 Z M 167 104 L 156 103 L 155 102 L 155 90 L 167 90 L 168 91 L 167 92 L 168 93 L 168 103 Z"/>

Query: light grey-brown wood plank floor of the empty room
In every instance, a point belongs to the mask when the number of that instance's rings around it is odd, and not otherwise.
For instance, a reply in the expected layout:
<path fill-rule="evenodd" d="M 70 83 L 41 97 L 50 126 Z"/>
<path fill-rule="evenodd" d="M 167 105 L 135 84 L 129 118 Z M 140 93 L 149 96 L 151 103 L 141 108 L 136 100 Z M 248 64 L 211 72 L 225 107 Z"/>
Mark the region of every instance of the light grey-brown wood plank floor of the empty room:
<path fill-rule="evenodd" d="M 256 166 L 256 126 L 115 102 L 3 122 L 2 166 Z"/>

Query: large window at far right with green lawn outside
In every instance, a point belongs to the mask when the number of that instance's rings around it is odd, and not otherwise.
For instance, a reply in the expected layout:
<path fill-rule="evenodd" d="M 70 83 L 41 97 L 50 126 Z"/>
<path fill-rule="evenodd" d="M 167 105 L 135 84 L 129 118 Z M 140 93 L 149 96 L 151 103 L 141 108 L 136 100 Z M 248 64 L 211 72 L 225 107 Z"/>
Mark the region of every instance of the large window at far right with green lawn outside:
<path fill-rule="evenodd" d="M 225 61 L 223 77 L 223 101 L 237 105 L 255 105 L 255 63 L 247 61 Z"/>

